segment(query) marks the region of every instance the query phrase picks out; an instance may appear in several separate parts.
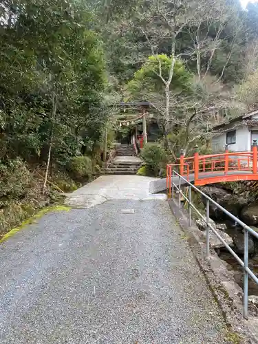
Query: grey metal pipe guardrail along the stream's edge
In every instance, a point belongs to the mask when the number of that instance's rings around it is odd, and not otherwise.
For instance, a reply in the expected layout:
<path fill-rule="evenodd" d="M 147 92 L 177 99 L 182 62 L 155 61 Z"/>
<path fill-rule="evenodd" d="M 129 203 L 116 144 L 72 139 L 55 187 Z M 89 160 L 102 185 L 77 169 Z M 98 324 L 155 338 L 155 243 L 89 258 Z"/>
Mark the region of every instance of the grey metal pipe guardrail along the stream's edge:
<path fill-rule="evenodd" d="M 175 176 L 178 176 L 178 178 L 179 178 L 178 186 L 174 182 Z M 184 181 L 184 184 L 187 184 L 189 186 L 188 197 L 186 195 L 184 195 L 184 193 L 182 192 L 182 189 L 181 189 L 182 181 Z M 184 197 L 184 200 L 186 200 L 187 204 L 189 205 L 188 206 L 188 209 L 189 209 L 189 226 L 191 226 L 191 222 L 192 222 L 192 210 L 194 210 L 195 213 L 197 213 L 206 223 L 206 257 L 208 257 L 210 255 L 210 236 L 209 236 L 210 233 L 209 233 L 209 230 L 211 229 L 212 232 L 219 238 L 219 240 L 224 244 L 224 246 L 227 248 L 227 250 L 231 253 L 231 255 L 233 255 L 233 257 L 235 257 L 235 259 L 242 266 L 242 268 L 244 268 L 244 299 L 243 299 L 244 312 L 243 312 L 243 315 L 244 315 L 244 318 L 248 319 L 248 276 L 250 276 L 255 281 L 255 283 L 258 284 L 258 278 L 250 270 L 250 268 L 248 268 L 248 235 L 250 233 L 251 235 L 253 235 L 254 237 L 256 237 L 258 239 L 258 234 L 255 232 L 255 230 L 252 230 L 252 228 L 250 228 L 249 226 L 244 224 L 244 222 L 242 222 L 240 219 L 235 217 L 233 214 L 231 214 L 225 208 L 220 206 L 211 197 L 208 197 L 205 193 L 200 191 L 200 189 L 198 189 L 196 186 L 191 184 L 191 182 L 189 182 L 184 177 L 182 177 L 182 175 L 180 175 L 178 172 L 176 172 L 174 170 L 172 171 L 171 181 L 169 184 L 170 185 L 172 184 L 171 185 L 171 189 L 172 189 L 171 190 L 171 197 L 172 197 L 172 199 L 174 199 L 174 195 L 175 195 L 174 190 L 178 191 L 178 206 L 179 206 L 179 208 L 181 208 L 181 197 Z M 204 217 L 200 213 L 200 211 L 198 211 L 198 209 L 194 206 L 194 204 L 192 202 L 192 189 L 197 191 L 197 193 L 200 193 L 200 195 L 205 197 L 205 199 L 206 199 L 206 217 Z M 209 223 L 210 202 L 215 204 L 215 206 L 217 208 L 219 208 L 221 211 L 223 211 L 223 213 L 228 215 L 228 217 L 233 219 L 235 222 L 237 222 L 237 224 L 239 224 L 243 228 L 243 230 L 244 230 L 244 261 L 242 261 L 241 258 L 239 258 L 239 256 L 233 251 L 233 249 L 219 235 L 219 233 L 217 233 L 216 228 L 213 228 L 213 226 L 211 226 L 211 224 Z"/>

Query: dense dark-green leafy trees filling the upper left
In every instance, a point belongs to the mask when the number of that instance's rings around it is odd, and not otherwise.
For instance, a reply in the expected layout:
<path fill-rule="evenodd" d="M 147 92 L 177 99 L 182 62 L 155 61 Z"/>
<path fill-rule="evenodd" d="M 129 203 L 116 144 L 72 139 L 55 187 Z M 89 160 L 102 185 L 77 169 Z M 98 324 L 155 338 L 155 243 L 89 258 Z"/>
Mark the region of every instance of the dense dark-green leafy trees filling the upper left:
<path fill-rule="evenodd" d="M 53 158 L 65 166 L 98 141 L 106 120 L 94 18 L 83 3 L 65 0 L 11 0 L 2 11 L 0 158 L 43 162 L 53 132 Z"/>

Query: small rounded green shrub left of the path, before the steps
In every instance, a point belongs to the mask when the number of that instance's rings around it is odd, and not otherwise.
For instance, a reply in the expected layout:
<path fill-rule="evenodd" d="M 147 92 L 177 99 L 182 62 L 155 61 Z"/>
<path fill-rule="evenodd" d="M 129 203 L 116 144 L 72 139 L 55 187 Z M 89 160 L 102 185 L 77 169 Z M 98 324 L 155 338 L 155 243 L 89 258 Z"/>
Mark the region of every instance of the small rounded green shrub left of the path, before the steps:
<path fill-rule="evenodd" d="M 76 180 L 89 180 L 92 177 L 92 160 L 85 156 L 75 156 L 68 165 L 68 170 Z"/>

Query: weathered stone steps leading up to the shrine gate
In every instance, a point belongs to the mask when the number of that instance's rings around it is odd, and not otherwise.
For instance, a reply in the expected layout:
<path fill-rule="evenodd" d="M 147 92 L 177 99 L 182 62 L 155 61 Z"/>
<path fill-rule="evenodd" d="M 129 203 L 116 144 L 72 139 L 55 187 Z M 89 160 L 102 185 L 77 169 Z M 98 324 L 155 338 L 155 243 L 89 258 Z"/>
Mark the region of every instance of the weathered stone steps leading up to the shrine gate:
<path fill-rule="evenodd" d="M 108 165 L 103 168 L 104 174 L 114 175 L 133 175 L 136 174 L 142 160 L 136 157 L 133 144 L 121 144 L 116 148 L 116 157 Z"/>

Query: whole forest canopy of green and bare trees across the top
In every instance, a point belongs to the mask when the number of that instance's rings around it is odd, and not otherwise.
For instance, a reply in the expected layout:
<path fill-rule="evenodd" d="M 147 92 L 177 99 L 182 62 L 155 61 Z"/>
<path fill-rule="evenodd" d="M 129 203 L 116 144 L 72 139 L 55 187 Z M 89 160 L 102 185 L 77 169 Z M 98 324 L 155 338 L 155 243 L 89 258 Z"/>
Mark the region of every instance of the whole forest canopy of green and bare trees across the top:
<path fill-rule="evenodd" d="M 90 153 L 129 98 L 153 105 L 165 141 L 173 123 L 205 134 L 257 106 L 257 3 L 4 0 L 0 18 L 1 160 Z"/>

